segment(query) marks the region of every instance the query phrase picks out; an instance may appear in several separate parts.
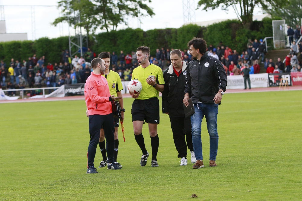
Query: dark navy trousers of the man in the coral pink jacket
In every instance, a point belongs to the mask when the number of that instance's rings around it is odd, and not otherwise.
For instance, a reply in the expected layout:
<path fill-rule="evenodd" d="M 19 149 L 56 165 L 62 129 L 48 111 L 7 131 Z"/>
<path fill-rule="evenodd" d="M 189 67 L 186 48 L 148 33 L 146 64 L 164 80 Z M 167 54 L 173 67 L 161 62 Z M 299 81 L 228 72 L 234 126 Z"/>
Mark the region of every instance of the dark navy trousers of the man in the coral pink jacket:
<path fill-rule="evenodd" d="M 89 116 L 89 134 L 90 141 L 87 152 L 87 168 L 94 166 L 94 158 L 96 148 L 98 146 L 98 140 L 100 139 L 101 127 L 104 128 L 106 138 L 106 152 L 108 157 L 108 163 L 113 162 L 114 152 L 114 120 L 112 113 L 107 115 L 90 115 Z"/>

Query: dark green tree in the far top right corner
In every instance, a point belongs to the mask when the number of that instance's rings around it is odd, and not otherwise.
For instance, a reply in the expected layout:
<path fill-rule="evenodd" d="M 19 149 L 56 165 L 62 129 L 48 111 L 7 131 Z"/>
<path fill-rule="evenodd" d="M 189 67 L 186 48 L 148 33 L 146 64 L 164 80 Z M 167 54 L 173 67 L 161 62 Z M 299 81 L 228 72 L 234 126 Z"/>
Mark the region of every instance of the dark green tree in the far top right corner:
<path fill-rule="evenodd" d="M 291 0 L 290 3 L 282 8 L 276 9 L 275 5 L 265 11 L 272 17 L 280 17 L 291 27 L 301 24 L 302 19 L 302 0 Z"/>

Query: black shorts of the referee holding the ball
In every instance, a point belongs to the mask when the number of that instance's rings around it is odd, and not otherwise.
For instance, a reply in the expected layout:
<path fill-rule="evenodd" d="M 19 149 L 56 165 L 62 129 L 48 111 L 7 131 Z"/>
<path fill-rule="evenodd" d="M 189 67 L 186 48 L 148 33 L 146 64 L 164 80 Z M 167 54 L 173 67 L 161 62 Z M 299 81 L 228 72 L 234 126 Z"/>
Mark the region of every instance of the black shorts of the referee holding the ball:
<path fill-rule="evenodd" d="M 157 97 L 146 100 L 135 99 L 131 108 L 132 121 L 159 123 L 159 100 Z"/>

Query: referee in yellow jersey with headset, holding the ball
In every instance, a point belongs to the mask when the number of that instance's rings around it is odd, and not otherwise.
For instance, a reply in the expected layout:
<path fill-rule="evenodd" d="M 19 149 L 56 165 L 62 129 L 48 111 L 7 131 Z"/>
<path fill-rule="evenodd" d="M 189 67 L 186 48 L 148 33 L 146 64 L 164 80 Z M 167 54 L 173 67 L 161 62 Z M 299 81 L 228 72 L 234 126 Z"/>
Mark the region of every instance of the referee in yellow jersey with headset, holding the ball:
<path fill-rule="evenodd" d="M 136 51 L 137 61 L 140 66 L 133 69 L 132 79 L 136 79 L 142 83 L 142 91 L 140 93 L 130 93 L 135 100 L 132 103 L 132 123 L 134 136 L 137 144 L 143 152 L 140 165 L 147 164 L 149 153 L 146 150 L 144 137 L 142 134 L 143 123 L 146 121 L 149 126 L 149 134 L 151 138 L 152 148 L 152 167 L 158 167 L 157 152 L 159 147 L 159 137 L 157 133 L 157 124 L 159 124 L 159 91 L 164 90 L 164 78 L 162 69 L 157 65 L 149 62 L 150 48 L 140 46 Z"/>

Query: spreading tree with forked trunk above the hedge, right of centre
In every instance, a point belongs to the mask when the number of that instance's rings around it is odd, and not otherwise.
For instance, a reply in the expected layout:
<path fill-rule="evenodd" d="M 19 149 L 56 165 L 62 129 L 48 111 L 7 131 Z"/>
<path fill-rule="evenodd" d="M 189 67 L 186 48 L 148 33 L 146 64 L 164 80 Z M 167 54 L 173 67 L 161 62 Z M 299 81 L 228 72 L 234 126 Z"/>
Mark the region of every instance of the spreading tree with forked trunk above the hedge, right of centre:
<path fill-rule="evenodd" d="M 275 9 L 282 8 L 287 5 L 289 0 L 199 0 L 198 7 L 207 11 L 221 8 L 224 11 L 233 9 L 237 18 L 249 28 L 253 21 L 253 12 L 256 6 L 266 10 L 274 7 Z"/>

